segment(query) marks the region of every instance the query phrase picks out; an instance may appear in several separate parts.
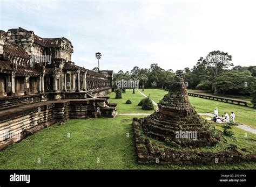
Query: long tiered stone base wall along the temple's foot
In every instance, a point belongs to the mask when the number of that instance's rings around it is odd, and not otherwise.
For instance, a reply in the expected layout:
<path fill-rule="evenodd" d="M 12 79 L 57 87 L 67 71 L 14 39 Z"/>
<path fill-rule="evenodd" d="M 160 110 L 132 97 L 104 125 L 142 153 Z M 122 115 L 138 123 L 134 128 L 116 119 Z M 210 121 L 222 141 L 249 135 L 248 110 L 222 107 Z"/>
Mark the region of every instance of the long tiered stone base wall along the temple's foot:
<path fill-rule="evenodd" d="M 69 119 L 88 119 L 116 115 L 109 97 L 63 99 L 26 105 L 23 109 L 0 112 L 0 150 L 55 123 Z"/>

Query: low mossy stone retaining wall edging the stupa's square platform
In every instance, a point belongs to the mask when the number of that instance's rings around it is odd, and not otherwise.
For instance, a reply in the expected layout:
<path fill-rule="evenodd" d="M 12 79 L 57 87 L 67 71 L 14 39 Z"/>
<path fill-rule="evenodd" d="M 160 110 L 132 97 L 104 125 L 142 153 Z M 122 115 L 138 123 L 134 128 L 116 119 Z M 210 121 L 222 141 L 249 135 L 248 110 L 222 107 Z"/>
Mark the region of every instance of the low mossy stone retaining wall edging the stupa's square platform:
<path fill-rule="evenodd" d="M 229 145 L 228 150 L 220 152 L 207 152 L 204 150 L 180 150 L 156 143 L 147 137 L 138 123 L 138 118 L 133 118 L 134 139 L 138 163 L 140 164 L 219 164 L 226 162 L 256 161 L 254 154 L 242 154 L 235 146 Z M 217 163 L 216 163 L 217 161 Z"/>

